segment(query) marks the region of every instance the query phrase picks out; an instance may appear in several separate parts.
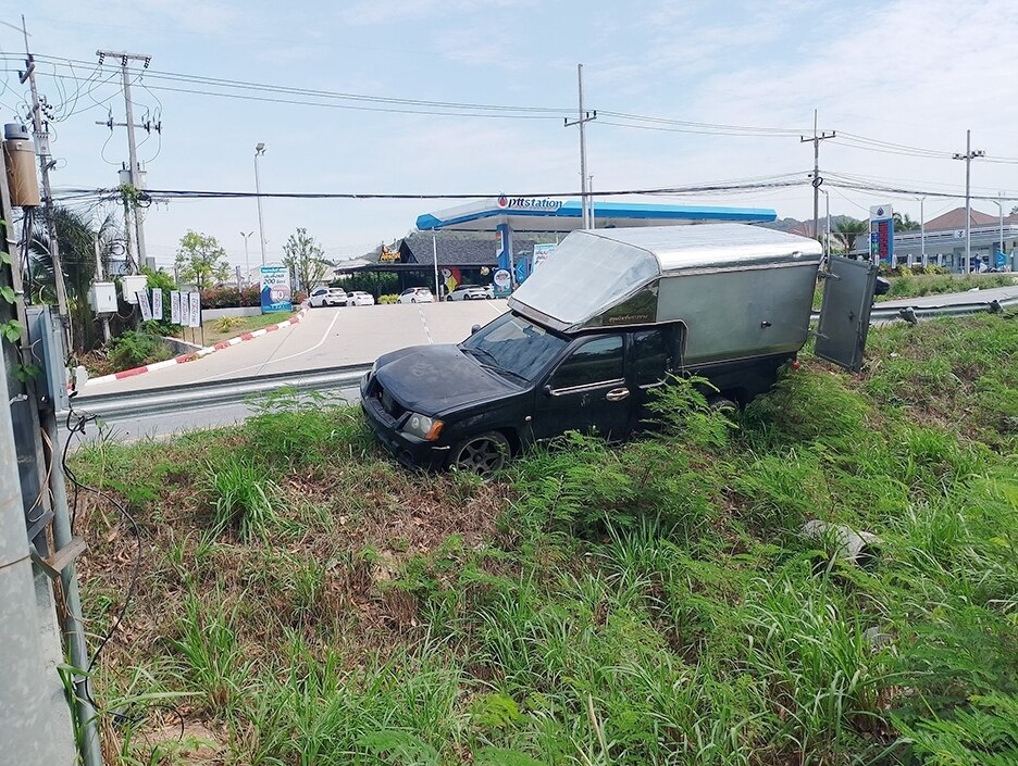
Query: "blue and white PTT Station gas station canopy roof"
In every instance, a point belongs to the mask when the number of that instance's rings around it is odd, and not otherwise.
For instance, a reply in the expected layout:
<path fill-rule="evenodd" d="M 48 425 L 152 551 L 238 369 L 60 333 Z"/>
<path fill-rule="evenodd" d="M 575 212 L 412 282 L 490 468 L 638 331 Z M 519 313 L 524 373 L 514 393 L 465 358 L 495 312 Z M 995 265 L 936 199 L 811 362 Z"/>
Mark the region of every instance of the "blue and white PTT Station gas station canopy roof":
<path fill-rule="evenodd" d="M 667 226 L 699 223 L 761 223 L 777 221 L 765 208 L 712 208 L 704 205 L 643 204 L 594 201 L 595 228 Z M 463 229 L 489 231 L 508 224 L 516 231 L 572 231 L 583 228 L 579 200 L 563 202 L 535 197 L 493 197 L 418 216 L 420 231 Z"/>

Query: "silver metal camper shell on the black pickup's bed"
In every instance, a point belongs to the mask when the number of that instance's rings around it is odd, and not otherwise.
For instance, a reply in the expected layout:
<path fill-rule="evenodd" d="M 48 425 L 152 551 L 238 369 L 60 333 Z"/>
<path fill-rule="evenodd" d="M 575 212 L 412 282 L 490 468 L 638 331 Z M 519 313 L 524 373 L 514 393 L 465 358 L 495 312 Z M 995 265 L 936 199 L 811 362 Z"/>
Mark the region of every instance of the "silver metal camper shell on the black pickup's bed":
<path fill-rule="evenodd" d="M 509 306 L 567 334 L 680 323 L 688 366 L 794 354 L 821 260 L 816 240 L 745 224 L 574 231 Z M 868 306 L 876 269 L 836 260 L 866 273 Z"/>

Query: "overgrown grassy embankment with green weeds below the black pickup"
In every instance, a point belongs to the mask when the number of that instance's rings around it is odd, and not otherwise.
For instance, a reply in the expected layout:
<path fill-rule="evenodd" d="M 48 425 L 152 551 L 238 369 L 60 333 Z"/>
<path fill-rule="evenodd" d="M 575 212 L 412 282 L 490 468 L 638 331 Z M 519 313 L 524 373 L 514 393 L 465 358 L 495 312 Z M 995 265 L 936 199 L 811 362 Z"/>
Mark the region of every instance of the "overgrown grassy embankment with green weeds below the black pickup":
<path fill-rule="evenodd" d="M 657 436 L 574 437 L 487 484 L 283 400 L 85 448 L 145 551 L 96 678 L 126 711 L 102 718 L 110 762 L 1013 763 L 1018 317 L 870 350 L 858 378 L 807 360 L 733 422 L 676 387 Z M 832 556 L 810 518 L 878 557 Z M 88 495 L 78 519 L 101 635 L 136 540 Z"/>

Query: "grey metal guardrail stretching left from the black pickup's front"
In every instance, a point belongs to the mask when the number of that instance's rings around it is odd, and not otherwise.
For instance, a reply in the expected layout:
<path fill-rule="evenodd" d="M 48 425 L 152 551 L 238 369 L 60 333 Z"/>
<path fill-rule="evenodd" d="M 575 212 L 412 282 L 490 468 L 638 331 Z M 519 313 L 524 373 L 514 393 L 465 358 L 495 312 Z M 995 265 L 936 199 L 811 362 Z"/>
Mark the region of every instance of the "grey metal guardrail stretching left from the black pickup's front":
<path fill-rule="evenodd" d="M 239 404 L 252 394 L 282 388 L 295 391 L 327 391 L 357 386 L 371 368 L 369 364 L 345 365 L 307 373 L 274 373 L 235 380 L 185 384 L 144 391 L 82 394 L 74 409 L 92 415 L 142 415 L 172 412 L 182 407 L 203 409 Z M 64 413 L 61 413 L 63 415 Z"/>

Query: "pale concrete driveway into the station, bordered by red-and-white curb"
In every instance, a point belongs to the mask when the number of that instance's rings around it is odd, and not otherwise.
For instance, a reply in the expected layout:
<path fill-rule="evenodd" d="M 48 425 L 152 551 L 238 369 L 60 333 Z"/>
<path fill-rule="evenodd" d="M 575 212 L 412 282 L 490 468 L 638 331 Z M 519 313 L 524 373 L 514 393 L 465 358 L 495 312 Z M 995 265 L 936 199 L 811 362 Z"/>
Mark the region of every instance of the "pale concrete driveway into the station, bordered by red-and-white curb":
<path fill-rule="evenodd" d="M 501 300 L 312 309 L 296 325 L 194 362 L 86 386 L 82 399 L 90 393 L 368 364 L 407 346 L 458 343 L 470 335 L 471 326 L 486 325 L 506 309 Z"/>

